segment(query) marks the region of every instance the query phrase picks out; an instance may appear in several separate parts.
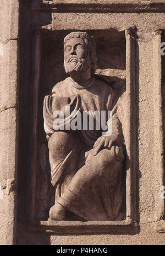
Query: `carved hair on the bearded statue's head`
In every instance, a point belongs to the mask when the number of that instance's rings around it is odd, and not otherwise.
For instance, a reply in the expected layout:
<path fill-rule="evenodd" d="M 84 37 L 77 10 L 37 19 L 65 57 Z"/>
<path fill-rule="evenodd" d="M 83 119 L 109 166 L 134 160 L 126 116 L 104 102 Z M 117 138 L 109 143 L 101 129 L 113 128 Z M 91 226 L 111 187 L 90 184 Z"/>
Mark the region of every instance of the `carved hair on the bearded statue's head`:
<path fill-rule="evenodd" d="M 86 32 L 72 32 L 67 36 L 65 36 L 64 44 L 67 43 L 67 41 L 72 38 L 82 38 L 85 41 L 85 44 L 88 49 L 88 54 L 91 60 L 91 73 L 95 74 L 95 71 L 97 69 L 97 58 L 96 58 L 96 45 L 95 45 L 94 37 L 90 36 Z"/>

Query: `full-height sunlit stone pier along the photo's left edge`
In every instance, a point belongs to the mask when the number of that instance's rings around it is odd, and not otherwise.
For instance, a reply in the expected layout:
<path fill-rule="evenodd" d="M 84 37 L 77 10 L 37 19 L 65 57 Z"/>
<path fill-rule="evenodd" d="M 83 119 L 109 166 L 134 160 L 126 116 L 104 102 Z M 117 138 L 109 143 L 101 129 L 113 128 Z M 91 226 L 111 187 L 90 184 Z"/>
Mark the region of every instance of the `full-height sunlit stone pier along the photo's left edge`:
<path fill-rule="evenodd" d="M 19 1 L 2 0 L 0 3 L 0 244 L 15 243 L 18 17 Z"/>

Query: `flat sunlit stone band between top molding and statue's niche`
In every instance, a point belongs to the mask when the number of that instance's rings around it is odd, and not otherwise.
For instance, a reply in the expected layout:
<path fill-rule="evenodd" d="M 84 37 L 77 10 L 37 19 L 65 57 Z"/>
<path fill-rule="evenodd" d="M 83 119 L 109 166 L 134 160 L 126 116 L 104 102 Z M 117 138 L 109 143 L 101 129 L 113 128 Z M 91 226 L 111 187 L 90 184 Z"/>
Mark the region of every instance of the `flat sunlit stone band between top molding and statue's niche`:
<path fill-rule="evenodd" d="M 158 18 L 158 19 L 157 19 Z M 81 20 L 81 22 L 79 22 Z M 148 22 L 150 20 L 150 23 Z M 165 27 L 164 13 L 53 13 L 51 29 L 128 29 L 152 32 Z"/>

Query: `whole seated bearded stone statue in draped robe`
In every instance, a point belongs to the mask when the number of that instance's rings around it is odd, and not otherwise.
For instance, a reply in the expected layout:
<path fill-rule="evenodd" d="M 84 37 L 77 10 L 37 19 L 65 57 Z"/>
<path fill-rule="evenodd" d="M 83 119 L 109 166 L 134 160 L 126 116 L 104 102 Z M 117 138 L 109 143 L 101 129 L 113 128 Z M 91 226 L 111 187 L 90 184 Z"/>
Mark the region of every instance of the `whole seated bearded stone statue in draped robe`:
<path fill-rule="evenodd" d="M 70 76 L 53 87 L 43 104 L 52 185 L 56 189 L 50 209 L 52 220 L 123 219 L 123 135 L 117 98 L 112 87 L 94 75 L 96 62 L 92 36 L 72 32 L 64 38 L 64 69 Z M 89 118 L 82 128 L 85 114 L 96 111 L 101 114 L 100 118 L 91 114 L 93 127 Z M 63 118 L 56 112 L 62 112 Z M 97 126 L 102 113 L 104 131 Z"/>

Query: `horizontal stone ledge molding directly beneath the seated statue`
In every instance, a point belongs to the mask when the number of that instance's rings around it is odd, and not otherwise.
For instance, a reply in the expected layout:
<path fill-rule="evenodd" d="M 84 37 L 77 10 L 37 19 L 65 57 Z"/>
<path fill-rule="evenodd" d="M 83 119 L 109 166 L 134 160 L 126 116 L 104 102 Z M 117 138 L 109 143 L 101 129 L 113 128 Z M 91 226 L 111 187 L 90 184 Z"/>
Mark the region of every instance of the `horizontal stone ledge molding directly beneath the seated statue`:
<path fill-rule="evenodd" d="M 26 223 L 27 231 L 67 234 L 136 234 L 139 231 L 135 221 L 40 221 Z"/>

